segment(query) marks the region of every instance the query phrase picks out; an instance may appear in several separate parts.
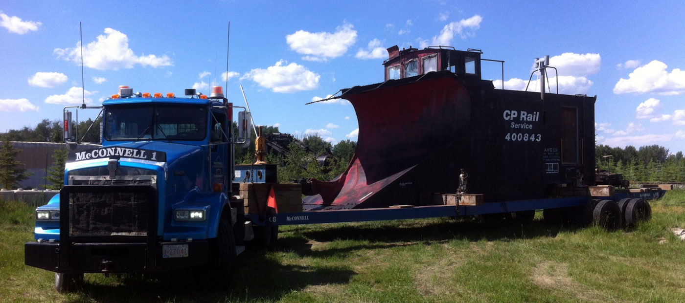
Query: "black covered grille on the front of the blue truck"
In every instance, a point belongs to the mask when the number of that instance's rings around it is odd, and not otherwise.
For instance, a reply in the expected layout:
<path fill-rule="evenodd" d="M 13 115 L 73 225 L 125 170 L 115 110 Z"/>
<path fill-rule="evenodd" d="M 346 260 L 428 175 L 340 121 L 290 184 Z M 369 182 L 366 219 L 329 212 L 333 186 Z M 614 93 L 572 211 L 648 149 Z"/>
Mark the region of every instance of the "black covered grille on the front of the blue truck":
<path fill-rule="evenodd" d="M 69 186 L 69 237 L 145 237 L 153 226 L 149 186 Z M 65 187 L 67 188 L 67 187 Z"/>

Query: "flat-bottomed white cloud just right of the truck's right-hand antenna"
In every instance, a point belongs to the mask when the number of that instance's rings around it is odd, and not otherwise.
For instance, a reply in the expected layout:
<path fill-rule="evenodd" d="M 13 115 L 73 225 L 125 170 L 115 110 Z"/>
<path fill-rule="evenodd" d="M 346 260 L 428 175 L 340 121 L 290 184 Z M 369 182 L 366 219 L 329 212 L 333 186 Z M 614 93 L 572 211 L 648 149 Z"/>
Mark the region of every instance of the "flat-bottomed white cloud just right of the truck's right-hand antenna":
<path fill-rule="evenodd" d="M 287 65 L 285 65 L 287 64 Z M 321 75 L 313 73 L 306 67 L 296 63 L 280 60 L 274 66 L 266 69 L 255 68 L 240 79 L 251 79 L 263 88 L 270 88 L 273 92 L 300 92 L 319 88 Z"/>

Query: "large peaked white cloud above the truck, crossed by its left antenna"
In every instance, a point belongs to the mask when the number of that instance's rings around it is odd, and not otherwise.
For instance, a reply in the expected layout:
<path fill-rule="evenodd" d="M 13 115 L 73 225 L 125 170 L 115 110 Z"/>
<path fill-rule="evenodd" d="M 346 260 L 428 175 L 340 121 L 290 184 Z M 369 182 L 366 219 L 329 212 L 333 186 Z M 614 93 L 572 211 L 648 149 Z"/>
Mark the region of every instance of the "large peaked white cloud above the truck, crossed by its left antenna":
<path fill-rule="evenodd" d="M 73 49 L 54 49 L 58 58 L 71 62 L 81 62 L 80 42 Z M 105 34 L 97 36 L 97 41 L 90 42 L 83 49 L 84 65 L 97 70 L 119 70 L 140 66 L 171 66 L 171 58 L 167 55 L 136 55 L 129 49 L 128 36 L 116 29 L 106 28 Z"/>

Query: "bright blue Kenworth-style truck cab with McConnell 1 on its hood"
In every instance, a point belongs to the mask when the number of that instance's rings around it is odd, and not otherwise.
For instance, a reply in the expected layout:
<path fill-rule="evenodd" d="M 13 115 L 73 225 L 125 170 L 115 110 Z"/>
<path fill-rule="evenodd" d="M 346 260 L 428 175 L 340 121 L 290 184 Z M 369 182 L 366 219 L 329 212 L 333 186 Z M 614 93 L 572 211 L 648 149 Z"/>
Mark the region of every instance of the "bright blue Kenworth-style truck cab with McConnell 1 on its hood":
<path fill-rule="evenodd" d="M 103 101 L 101 146 L 69 153 L 64 187 L 36 209 L 36 241 L 25 244 L 25 263 L 55 272 L 58 291 L 86 272 L 195 265 L 229 282 L 245 239 L 242 204 L 231 199 L 234 144 L 249 140 L 249 112 L 234 138 L 221 87 L 186 95 L 122 87 Z"/>

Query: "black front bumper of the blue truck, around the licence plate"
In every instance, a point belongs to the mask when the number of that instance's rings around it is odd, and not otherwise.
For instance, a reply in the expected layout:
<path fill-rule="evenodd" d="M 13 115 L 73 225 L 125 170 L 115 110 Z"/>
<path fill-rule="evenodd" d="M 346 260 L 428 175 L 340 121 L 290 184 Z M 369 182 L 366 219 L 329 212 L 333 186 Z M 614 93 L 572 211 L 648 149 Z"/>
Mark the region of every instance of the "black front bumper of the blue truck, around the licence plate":
<path fill-rule="evenodd" d="M 162 256 L 163 246 L 187 246 L 188 256 Z M 49 243 L 24 245 L 26 265 L 51 272 L 163 272 L 207 263 L 206 240 L 148 243 Z"/>

